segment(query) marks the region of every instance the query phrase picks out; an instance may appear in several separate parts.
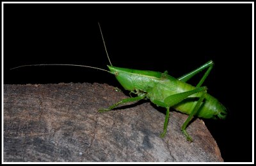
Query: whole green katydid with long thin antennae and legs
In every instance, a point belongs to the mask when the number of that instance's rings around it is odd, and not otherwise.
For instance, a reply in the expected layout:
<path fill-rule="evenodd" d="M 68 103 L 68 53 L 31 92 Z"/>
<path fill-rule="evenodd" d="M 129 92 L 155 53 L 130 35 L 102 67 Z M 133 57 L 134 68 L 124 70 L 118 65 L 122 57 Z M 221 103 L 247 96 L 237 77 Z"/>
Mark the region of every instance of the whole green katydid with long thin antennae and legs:
<path fill-rule="evenodd" d="M 100 24 L 99 24 L 100 28 Z M 102 30 L 100 28 L 100 34 L 104 43 L 104 48 L 108 56 L 108 51 L 106 49 L 105 41 L 102 35 Z M 166 135 L 167 124 L 169 119 L 170 107 L 175 110 L 188 114 L 188 119 L 184 122 L 181 127 L 182 133 L 186 136 L 186 139 L 193 141 L 191 136 L 186 132 L 186 127 L 188 126 L 191 119 L 194 116 L 202 118 L 213 118 L 213 119 L 225 119 L 227 112 L 225 107 L 218 102 L 216 98 L 207 94 L 207 87 L 202 86 L 204 80 L 207 78 L 212 70 L 213 62 L 209 61 L 204 65 L 196 68 L 192 72 L 175 79 L 174 77 L 167 74 L 167 72 L 153 72 L 149 70 L 133 70 L 129 68 L 118 68 L 111 64 L 108 56 L 110 65 L 108 65 L 109 71 L 101 68 L 96 68 L 93 66 L 84 66 L 77 64 L 29 64 L 23 66 L 45 66 L 45 65 L 65 65 L 65 66 L 81 66 L 86 68 L 94 68 L 98 70 L 103 70 L 104 72 L 111 73 L 115 75 L 116 79 L 125 90 L 130 91 L 138 96 L 125 98 L 114 105 L 106 109 L 99 109 L 99 112 L 107 112 L 116 108 L 118 105 L 129 102 L 138 102 L 142 99 L 150 100 L 150 102 L 156 104 L 159 107 L 164 107 L 166 109 L 166 116 L 164 120 L 163 133 L 161 137 Z M 20 68 L 23 66 L 18 66 L 15 68 Z M 12 68 L 14 69 L 14 68 Z M 202 79 L 198 82 L 196 86 L 191 86 L 186 83 L 191 77 L 207 69 L 204 73 Z"/>

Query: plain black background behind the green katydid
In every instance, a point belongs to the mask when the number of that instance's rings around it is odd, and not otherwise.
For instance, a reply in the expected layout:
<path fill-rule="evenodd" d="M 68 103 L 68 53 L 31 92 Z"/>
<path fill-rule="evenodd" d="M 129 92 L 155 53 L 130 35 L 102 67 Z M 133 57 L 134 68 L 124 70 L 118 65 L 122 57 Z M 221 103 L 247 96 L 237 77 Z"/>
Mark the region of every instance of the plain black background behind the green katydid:
<path fill-rule="evenodd" d="M 229 110 L 205 119 L 225 162 L 252 162 L 252 4 L 4 4 L 4 84 L 101 82 L 113 66 L 180 77 L 214 61 L 208 93 Z M 203 73 L 189 80 L 195 85 Z"/>

